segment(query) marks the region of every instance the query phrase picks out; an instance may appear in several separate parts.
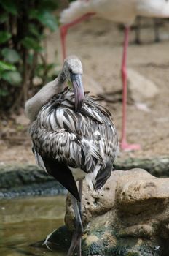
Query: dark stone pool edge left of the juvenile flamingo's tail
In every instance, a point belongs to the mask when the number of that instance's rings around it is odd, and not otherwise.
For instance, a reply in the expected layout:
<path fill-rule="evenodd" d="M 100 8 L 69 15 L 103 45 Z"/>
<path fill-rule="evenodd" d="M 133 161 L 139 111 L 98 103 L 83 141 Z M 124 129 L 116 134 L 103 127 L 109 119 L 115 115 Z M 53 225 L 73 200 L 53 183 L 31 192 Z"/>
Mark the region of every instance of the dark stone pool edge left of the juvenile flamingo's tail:
<path fill-rule="evenodd" d="M 25 195 L 64 195 L 66 189 L 36 165 L 0 164 L 0 199 Z"/>

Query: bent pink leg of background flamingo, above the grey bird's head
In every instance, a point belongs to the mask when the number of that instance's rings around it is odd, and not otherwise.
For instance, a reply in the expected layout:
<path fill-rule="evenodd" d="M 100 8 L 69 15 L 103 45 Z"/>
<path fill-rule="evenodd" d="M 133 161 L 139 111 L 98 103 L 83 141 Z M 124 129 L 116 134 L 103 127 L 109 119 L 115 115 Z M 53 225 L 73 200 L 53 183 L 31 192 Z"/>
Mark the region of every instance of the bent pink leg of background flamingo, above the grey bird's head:
<path fill-rule="evenodd" d="M 67 23 L 63 26 L 60 26 L 60 37 L 61 37 L 61 45 L 62 45 L 62 53 L 63 53 L 63 59 L 66 58 L 66 34 L 69 28 L 71 26 L 76 25 L 77 23 L 82 22 L 82 20 L 87 20 L 90 16 L 95 15 L 95 12 L 88 12 L 84 15 L 82 15 L 79 18 L 76 18 L 75 20 L 71 21 L 70 23 Z"/>

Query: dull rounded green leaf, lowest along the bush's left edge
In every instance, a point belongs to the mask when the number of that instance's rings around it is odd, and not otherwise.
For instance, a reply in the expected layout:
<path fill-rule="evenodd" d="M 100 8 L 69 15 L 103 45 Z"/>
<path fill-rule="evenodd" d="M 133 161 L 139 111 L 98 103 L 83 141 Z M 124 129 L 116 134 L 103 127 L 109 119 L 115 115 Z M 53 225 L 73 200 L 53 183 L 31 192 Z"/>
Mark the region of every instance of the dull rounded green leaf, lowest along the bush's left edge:
<path fill-rule="evenodd" d="M 1 78 L 6 80 L 8 83 L 10 83 L 12 86 L 19 86 L 22 82 L 22 77 L 20 75 L 20 72 L 17 71 L 5 71 Z"/>

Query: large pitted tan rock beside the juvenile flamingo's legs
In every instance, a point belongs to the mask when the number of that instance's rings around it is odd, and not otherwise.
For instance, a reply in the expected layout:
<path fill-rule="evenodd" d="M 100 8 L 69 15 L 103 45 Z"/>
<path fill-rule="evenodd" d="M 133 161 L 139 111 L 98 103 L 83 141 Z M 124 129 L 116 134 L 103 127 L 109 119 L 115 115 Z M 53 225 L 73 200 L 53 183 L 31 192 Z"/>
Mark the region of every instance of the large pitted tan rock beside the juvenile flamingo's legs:
<path fill-rule="evenodd" d="M 116 170 L 101 192 L 84 184 L 82 255 L 169 255 L 169 178 Z M 66 225 L 74 229 L 70 198 Z"/>

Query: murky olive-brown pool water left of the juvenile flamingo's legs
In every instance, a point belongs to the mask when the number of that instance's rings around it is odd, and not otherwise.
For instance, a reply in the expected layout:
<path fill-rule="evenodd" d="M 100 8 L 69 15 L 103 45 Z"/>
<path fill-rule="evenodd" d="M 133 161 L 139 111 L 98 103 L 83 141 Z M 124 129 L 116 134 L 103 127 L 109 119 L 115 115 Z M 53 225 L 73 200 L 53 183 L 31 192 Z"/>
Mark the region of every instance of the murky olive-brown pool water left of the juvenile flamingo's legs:
<path fill-rule="evenodd" d="M 65 256 L 30 246 L 63 225 L 65 201 L 65 196 L 1 200 L 0 255 Z"/>

